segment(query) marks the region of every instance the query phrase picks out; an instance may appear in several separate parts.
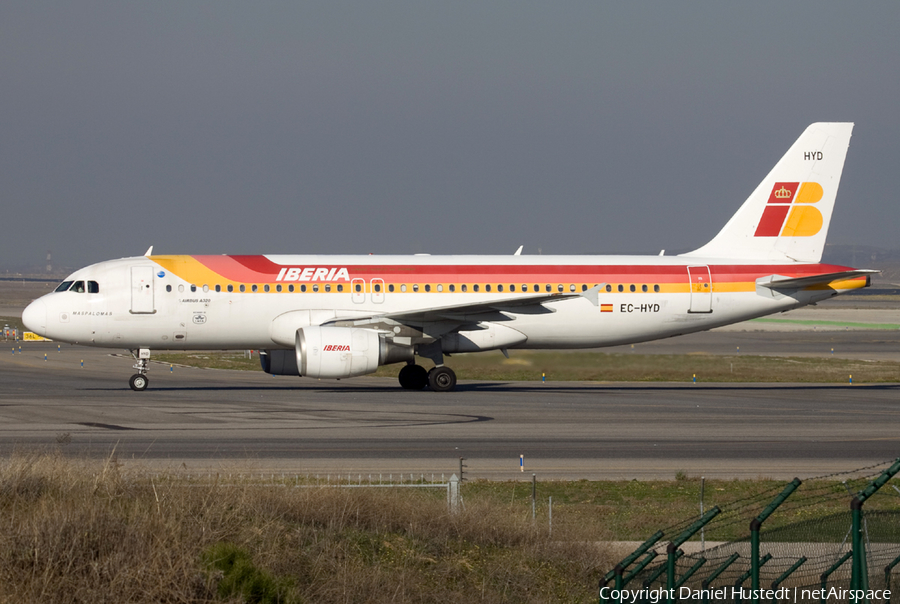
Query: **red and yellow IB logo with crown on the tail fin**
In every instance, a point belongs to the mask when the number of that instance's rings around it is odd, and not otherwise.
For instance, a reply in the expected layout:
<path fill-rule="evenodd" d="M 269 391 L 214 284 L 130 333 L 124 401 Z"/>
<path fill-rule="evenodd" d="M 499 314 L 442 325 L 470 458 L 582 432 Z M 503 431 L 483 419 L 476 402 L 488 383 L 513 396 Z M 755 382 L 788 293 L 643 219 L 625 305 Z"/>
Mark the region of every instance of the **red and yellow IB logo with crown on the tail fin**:
<path fill-rule="evenodd" d="M 822 199 L 817 182 L 776 182 L 755 237 L 812 237 L 822 230 L 822 213 L 812 204 Z"/>

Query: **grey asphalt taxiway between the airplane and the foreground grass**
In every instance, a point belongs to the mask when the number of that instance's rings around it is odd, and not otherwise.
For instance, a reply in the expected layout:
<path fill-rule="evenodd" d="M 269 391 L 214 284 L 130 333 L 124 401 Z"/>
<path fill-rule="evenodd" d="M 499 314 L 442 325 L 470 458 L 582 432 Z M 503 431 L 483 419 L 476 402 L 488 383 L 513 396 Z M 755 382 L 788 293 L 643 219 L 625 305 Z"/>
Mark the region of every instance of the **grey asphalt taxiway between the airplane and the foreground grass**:
<path fill-rule="evenodd" d="M 0 451 L 198 471 L 470 478 L 792 478 L 900 456 L 900 384 L 316 381 L 154 364 L 49 343 L 0 355 Z M 47 360 L 44 360 L 44 355 Z M 84 367 L 80 361 L 84 360 Z M 524 455 L 525 472 L 519 470 Z"/>

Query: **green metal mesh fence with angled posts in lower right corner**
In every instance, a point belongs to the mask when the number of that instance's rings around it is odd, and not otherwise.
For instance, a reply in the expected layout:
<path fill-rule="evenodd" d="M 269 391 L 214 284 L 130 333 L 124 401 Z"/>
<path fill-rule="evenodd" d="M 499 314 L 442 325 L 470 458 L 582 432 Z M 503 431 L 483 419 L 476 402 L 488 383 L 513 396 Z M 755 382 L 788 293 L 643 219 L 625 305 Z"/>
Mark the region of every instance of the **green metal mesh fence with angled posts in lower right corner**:
<path fill-rule="evenodd" d="M 900 603 L 898 472 L 900 458 L 794 479 L 662 528 L 604 577 L 600 601 Z M 745 538 L 696 547 L 701 528 L 741 523 Z"/>

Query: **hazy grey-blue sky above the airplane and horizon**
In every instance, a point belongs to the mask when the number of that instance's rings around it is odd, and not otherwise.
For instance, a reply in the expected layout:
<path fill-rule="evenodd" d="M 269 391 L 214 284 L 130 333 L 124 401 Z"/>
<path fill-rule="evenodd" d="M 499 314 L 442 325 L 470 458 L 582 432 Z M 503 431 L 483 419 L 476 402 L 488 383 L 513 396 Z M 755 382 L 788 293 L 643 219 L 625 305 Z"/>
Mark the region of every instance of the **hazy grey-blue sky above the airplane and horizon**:
<path fill-rule="evenodd" d="M 829 242 L 900 247 L 900 3 L 0 5 L 0 267 L 656 253 L 854 121 Z M 893 142 L 891 142 L 893 141 Z"/>

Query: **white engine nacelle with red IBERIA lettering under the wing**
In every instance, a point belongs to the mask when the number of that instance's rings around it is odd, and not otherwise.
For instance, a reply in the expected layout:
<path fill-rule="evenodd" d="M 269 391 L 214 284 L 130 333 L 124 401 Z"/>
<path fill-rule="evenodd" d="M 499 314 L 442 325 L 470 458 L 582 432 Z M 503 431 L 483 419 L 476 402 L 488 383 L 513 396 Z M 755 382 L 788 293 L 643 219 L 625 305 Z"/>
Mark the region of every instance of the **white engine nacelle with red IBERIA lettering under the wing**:
<path fill-rule="evenodd" d="M 374 329 L 354 327 L 298 329 L 295 354 L 299 374 L 315 378 L 366 375 L 380 365 L 413 359 L 411 347 L 386 342 Z"/>

